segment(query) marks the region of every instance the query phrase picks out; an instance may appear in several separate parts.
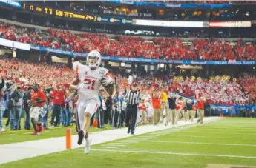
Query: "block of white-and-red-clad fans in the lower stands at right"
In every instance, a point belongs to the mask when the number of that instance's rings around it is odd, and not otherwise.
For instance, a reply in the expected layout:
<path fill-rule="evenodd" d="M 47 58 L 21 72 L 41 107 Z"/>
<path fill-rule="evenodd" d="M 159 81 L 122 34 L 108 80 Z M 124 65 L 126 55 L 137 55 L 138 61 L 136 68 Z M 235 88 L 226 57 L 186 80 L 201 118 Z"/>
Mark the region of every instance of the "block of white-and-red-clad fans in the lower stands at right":
<path fill-rule="evenodd" d="M 180 80 L 176 84 L 172 84 L 172 88 L 181 89 L 180 93 L 187 96 L 193 96 L 199 93 L 207 99 L 209 104 L 248 104 L 249 95 L 241 90 L 240 84 L 230 81 L 229 76 L 216 76 L 213 79 L 203 81 L 197 79 Z"/>

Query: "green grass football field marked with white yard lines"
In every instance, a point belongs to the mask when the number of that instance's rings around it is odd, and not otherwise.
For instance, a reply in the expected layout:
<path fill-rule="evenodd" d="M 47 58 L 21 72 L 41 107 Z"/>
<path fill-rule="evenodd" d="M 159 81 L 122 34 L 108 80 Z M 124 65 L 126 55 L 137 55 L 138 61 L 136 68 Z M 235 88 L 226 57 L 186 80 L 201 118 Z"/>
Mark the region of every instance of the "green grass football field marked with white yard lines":
<path fill-rule="evenodd" d="M 1 164 L 0 168 L 228 168 L 225 165 L 256 167 L 255 118 L 224 118 L 203 126 L 135 135 L 92 146 L 88 155 L 83 148 L 71 149 Z"/>

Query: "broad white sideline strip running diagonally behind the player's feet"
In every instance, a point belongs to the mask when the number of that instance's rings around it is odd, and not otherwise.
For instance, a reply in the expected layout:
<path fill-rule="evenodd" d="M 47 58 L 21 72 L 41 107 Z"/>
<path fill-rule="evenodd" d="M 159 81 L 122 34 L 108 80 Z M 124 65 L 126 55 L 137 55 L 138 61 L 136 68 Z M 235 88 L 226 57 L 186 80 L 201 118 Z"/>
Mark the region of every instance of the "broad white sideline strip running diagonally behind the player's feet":
<path fill-rule="evenodd" d="M 216 117 L 205 118 L 205 121 L 217 121 L 217 120 L 220 120 L 220 118 L 216 118 Z M 195 122 L 196 121 L 194 121 L 194 123 Z M 183 121 L 180 121 L 177 127 L 183 127 L 188 124 L 191 124 L 191 123 L 185 123 Z M 143 135 L 145 133 L 156 132 L 156 131 L 166 130 L 166 129 L 171 130 L 173 128 L 175 127 L 165 127 L 163 124 L 157 127 L 154 125 L 145 125 L 145 126 L 137 127 L 135 130 L 135 135 Z M 65 130 L 63 130 L 63 134 L 65 135 Z M 118 139 L 128 138 L 128 137 L 131 137 L 131 135 L 127 134 L 126 128 L 116 129 L 116 130 L 106 130 L 101 132 L 93 132 L 89 134 L 89 139 L 93 140 L 91 145 L 102 144 L 108 141 L 116 141 Z M 36 141 L 25 141 L 20 143 L 13 143 L 13 144 L 1 144 L 0 151 L 4 153 L 4 155 L 1 155 L 0 165 L 4 163 L 12 162 L 12 161 L 19 161 L 26 158 L 33 158 L 40 155 L 47 155 L 49 153 L 65 151 L 66 150 L 65 140 L 66 138 L 64 136 L 64 137 L 58 137 L 58 138 L 47 138 L 47 139 L 36 140 Z M 0 137 L 0 141 L 1 141 L 1 137 Z M 72 142 L 72 145 L 71 145 L 72 149 L 84 147 L 83 145 L 79 146 L 77 144 L 77 135 L 72 135 L 71 142 Z"/>

